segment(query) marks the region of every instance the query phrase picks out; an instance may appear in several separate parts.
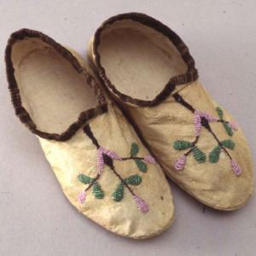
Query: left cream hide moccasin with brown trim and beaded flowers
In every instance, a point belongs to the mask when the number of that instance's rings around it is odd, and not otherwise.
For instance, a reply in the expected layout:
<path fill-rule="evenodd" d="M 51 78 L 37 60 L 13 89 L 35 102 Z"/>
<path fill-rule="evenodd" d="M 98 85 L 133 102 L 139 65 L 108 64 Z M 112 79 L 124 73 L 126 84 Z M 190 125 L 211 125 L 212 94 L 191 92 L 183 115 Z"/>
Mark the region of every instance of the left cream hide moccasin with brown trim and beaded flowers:
<path fill-rule="evenodd" d="M 120 236 L 166 230 L 174 214 L 166 177 L 79 55 L 22 29 L 5 60 L 15 113 L 38 136 L 68 201 Z"/>

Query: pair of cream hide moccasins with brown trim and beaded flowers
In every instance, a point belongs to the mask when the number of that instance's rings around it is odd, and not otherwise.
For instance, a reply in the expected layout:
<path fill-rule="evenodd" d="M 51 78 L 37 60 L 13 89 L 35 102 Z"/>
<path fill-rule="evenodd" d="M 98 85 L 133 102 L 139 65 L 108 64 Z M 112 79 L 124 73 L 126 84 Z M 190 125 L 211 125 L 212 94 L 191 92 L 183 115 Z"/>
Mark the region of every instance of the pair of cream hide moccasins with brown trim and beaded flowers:
<path fill-rule="evenodd" d="M 246 139 L 175 32 L 148 15 L 116 15 L 96 30 L 89 57 L 91 69 L 29 29 L 10 36 L 5 55 L 15 113 L 79 212 L 121 236 L 156 236 L 174 216 L 165 174 L 209 207 L 247 202 Z"/>

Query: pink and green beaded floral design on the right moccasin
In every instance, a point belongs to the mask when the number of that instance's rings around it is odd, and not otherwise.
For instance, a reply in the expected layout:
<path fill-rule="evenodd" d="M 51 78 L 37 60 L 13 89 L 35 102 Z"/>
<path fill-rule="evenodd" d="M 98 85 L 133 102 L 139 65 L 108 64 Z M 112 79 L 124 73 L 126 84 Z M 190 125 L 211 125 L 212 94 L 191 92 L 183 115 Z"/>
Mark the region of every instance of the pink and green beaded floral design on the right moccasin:
<path fill-rule="evenodd" d="M 182 154 L 175 162 L 175 169 L 177 171 L 182 171 L 186 165 L 187 157 L 189 154 L 193 154 L 194 159 L 198 163 L 204 163 L 207 160 L 207 154 L 205 154 L 200 148 L 197 147 L 199 138 L 201 137 L 201 130 L 203 128 L 207 129 L 212 134 L 212 137 L 216 141 L 216 145 L 212 148 L 212 151 L 209 154 L 209 162 L 214 164 L 218 163 L 219 156 L 223 151 L 230 159 L 230 165 L 236 176 L 241 175 L 241 167 L 237 164 L 236 160 L 232 158 L 228 149 L 234 150 L 235 143 L 231 139 L 226 139 L 220 141 L 217 135 L 212 131 L 210 123 L 219 122 L 224 126 L 227 134 L 232 137 L 234 131 L 236 131 L 237 125 L 234 122 L 228 122 L 224 120 L 224 112 L 221 108 L 216 108 L 218 117 L 212 116 L 210 113 L 203 112 L 193 108 L 188 102 L 183 100 L 183 97 L 177 93 L 174 95 L 174 98 L 177 102 L 181 103 L 185 108 L 188 108 L 191 112 L 194 113 L 194 125 L 195 125 L 195 140 L 193 142 L 187 142 L 183 140 L 177 140 L 173 143 L 173 148 L 176 150 L 187 150 L 186 153 Z"/>

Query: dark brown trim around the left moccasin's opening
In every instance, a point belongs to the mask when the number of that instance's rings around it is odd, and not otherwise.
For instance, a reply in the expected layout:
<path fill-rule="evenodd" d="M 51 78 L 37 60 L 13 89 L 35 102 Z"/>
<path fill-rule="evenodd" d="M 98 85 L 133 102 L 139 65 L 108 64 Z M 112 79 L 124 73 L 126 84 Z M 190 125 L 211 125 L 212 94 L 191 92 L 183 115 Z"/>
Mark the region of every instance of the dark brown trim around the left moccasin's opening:
<path fill-rule="evenodd" d="M 33 122 L 29 113 L 22 106 L 20 90 L 15 79 L 15 68 L 13 67 L 11 55 L 12 47 L 15 42 L 20 41 L 24 38 L 40 38 L 44 43 L 52 46 L 58 53 L 60 53 L 65 59 L 67 59 L 67 61 L 70 61 L 70 63 L 73 65 L 78 73 L 84 74 L 84 84 L 89 84 L 90 87 L 93 88 L 95 91 L 96 101 L 98 104 L 96 108 L 90 108 L 80 113 L 78 119 L 61 134 L 39 131 L 37 129 L 37 125 Z M 73 135 L 79 130 L 79 128 L 84 125 L 87 120 L 108 111 L 106 99 L 102 94 L 102 90 L 100 89 L 99 84 L 96 83 L 96 79 L 94 79 L 89 73 L 87 73 L 86 70 L 84 70 L 84 67 L 81 67 L 79 61 L 68 49 L 61 46 L 61 44 L 56 43 L 55 40 L 49 38 L 42 32 L 37 32 L 24 28 L 11 34 L 7 47 L 5 49 L 5 63 L 7 79 L 9 82 L 9 91 L 11 95 L 11 100 L 15 108 L 15 113 L 20 118 L 20 121 L 24 123 L 30 131 L 37 134 L 39 137 L 43 137 L 49 140 L 66 141 L 69 138 L 73 137 Z"/>

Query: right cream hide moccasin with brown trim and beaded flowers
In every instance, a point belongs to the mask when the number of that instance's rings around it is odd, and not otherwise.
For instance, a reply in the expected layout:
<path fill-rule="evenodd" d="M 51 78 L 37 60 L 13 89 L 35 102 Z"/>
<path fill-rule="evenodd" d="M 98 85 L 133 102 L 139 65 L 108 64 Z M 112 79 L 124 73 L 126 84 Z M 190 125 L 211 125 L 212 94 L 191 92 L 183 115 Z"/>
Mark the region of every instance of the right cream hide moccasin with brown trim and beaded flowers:
<path fill-rule="evenodd" d="M 97 29 L 90 59 L 173 181 L 209 207 L 245 205 L 253 193 L 246 139 L 200 83 L 175 32 L 148 15 L 116 15 Z"/>

